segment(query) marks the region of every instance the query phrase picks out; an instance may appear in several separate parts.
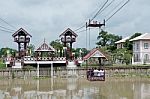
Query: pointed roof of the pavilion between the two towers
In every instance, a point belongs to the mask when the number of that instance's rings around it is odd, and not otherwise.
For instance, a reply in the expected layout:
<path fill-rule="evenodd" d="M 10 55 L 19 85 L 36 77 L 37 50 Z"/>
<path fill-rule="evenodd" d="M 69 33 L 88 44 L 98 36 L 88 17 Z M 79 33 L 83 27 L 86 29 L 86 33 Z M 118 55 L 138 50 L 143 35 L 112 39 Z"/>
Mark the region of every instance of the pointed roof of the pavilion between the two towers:
<path fill-rule="evenodd" d="M 55 49 L 52 46 L 46 44 L 45 41 L 44 41 L 44 43 L 39 48 L 37 48 L 35 51 L 54 52 Z"/>

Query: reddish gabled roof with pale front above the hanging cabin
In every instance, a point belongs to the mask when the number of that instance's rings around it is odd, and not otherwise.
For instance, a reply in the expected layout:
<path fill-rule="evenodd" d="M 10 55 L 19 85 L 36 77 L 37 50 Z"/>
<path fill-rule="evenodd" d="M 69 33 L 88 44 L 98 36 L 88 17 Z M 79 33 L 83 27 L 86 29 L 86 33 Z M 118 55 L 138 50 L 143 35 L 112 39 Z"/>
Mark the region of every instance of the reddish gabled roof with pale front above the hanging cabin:
<path fill-rule="evenodd" d="M 97 48 L 92 49 L 85 57 L 83 57 L 83 59 L 88 60 L 90 57 L 101 57 L 108 60 L 106 55 L 104 55 L 104 53 L 102 53 L 102 51 L 100 51 L 100 49 Z"/>

